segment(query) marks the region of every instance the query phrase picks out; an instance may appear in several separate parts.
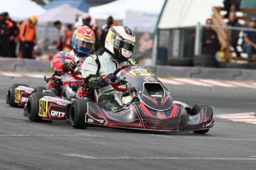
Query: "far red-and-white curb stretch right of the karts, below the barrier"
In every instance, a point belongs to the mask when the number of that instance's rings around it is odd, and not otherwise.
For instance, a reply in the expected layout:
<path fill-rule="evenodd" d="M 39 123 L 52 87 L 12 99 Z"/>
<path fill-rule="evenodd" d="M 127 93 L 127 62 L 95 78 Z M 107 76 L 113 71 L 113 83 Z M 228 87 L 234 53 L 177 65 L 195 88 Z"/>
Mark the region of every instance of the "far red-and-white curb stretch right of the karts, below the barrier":
<path fill-rule="evenodd" d="M 233 88 L 253 88 L 256 89 L 256 83 L 238 82 L 238 81 L 221 81 L 200 78 L 158 78 L 163 84 L 191 85 L 191 86 L 222 86 Z"/>

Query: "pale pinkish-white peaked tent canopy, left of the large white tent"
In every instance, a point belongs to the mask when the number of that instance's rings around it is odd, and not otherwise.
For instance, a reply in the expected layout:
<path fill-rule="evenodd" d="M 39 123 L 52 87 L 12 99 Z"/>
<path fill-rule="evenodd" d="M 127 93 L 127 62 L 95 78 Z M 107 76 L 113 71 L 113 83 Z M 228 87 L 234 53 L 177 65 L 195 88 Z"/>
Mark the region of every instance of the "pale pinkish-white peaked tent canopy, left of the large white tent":
<path fill-rule="evenodd" d="M 76 20 L 77 15 L 82 15 L 84 13 L 82 10 L 76 7 L 70 6 L 70 4 L 62 4 L 59 7 L 54 7 L 42 13 L 39 16 L 39 23 L 47 23 L 54 21 L 61 21 L 65 24 L 72 24 Z"/>

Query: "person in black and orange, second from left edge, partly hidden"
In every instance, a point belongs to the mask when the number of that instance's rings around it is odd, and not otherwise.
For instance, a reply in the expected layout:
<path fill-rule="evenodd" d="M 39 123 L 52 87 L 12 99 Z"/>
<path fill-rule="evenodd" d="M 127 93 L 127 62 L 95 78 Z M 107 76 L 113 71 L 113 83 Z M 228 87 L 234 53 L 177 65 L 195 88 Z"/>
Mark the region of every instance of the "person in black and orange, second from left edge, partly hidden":
<path fill-rule="evenodd" d="M 10 56 L 16 58 L 16 46 L 19 41 L 19 27 L 16 21 L 13 21 L 9 13 L 5 13 L 6 18 L 13 24 L 13 35 L 10 35 Z"/>

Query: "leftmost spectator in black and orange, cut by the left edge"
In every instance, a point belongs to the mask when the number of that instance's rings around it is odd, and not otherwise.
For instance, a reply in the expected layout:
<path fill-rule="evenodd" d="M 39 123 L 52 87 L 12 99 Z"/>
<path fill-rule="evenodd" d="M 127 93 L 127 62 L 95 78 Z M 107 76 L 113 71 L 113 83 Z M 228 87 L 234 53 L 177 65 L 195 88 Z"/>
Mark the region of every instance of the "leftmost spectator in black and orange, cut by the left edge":
<path fill-rule="evenodd" d="M 0 56 L 10 57 L 10 37 L 13 35 L 13 24 L 7 20 L 6 13 L 0 14 Z"/>

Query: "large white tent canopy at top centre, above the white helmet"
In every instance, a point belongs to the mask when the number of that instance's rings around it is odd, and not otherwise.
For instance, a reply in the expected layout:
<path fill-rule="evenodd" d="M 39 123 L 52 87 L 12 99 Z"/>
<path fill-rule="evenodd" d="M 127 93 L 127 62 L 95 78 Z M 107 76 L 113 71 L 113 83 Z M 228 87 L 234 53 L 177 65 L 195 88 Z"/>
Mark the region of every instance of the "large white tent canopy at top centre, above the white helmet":
<path fill-rule="evenodd" d="M 93 19 L 122 20 L 131 30 L 139 32 L 154 31 L 157 19 L 165 0 L 119 0 L 99 7 L 91 7 L 89 14 Z"/>

